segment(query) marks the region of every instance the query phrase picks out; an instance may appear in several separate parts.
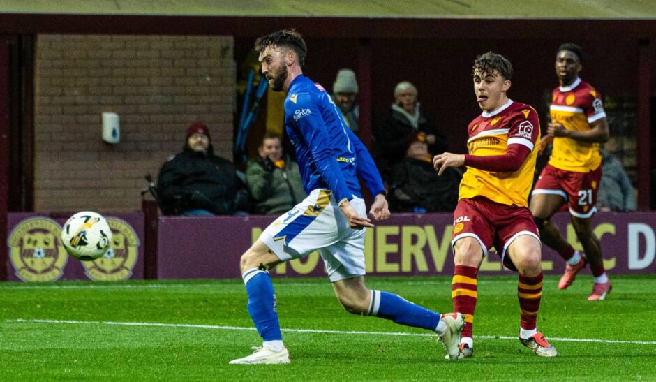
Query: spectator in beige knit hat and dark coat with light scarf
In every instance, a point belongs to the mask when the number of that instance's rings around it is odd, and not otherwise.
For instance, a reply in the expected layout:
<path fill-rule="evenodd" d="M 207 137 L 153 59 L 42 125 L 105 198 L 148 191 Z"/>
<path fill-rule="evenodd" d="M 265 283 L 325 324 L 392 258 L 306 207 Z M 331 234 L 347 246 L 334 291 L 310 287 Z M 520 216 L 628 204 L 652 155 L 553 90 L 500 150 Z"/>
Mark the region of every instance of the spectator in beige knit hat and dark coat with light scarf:
<path fill-rule="evenodd" d="M 394 88 L 391 114 L 374 130 L 375 159 L 384 179 L 392 166 L 403 159 L 408 140 L 423 133 L 428 152 L 442 154 L 447 151 L 446 138 L 438 126 L 419 110 L 417 88 L 410 82 L 399 82 Z"/>

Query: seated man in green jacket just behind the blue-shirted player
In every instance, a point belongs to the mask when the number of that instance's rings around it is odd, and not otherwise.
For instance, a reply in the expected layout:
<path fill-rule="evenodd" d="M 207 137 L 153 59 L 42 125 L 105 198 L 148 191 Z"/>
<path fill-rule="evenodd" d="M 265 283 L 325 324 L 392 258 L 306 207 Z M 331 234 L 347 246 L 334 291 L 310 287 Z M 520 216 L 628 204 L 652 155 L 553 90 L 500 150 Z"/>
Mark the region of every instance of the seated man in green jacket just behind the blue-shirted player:
<path fill-rule="evenodd" d="M 264 135 L 259 156 L 248 161 L 246 186 L 255 199 L 256 214 L 282 214 L 306 198 L 299 165 L 283 155 L 281 140 Z"/>

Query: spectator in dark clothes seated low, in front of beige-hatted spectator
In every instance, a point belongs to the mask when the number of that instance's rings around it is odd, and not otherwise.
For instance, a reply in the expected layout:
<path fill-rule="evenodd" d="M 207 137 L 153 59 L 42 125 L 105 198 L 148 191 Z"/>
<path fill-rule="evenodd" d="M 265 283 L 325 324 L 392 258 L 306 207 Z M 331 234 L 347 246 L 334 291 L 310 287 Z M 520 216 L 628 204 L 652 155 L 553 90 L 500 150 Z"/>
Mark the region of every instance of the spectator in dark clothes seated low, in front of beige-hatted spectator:
<path fill-rule="evenodd" d="M 452 212 L 458 203 L 463 175 L 447 168 L 442 176 L 433 168 L 424 134 L 410 140 L 405 158 L 392 168 L 389 179 L 389 210 L 393 212 Z"/>

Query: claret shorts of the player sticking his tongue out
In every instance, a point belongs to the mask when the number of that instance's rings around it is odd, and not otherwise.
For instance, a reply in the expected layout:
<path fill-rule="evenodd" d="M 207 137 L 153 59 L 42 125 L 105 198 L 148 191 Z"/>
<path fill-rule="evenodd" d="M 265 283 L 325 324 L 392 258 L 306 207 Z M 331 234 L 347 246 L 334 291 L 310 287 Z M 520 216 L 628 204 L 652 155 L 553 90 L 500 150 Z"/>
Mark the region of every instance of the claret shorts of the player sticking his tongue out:
<path fill-rule="evenodd" d="M 538 241 L 537 226 L 526 207 L 502 205 L 487 198 L 463 198 L 454 210 L 454 228 L 451 245 L 463 237 L 474 237 L 481 244 L 483 256 L 494 247 L 509 270 L 517 270 L 505 256 L 510 244 L 521 235 L 530 235 Z"/>

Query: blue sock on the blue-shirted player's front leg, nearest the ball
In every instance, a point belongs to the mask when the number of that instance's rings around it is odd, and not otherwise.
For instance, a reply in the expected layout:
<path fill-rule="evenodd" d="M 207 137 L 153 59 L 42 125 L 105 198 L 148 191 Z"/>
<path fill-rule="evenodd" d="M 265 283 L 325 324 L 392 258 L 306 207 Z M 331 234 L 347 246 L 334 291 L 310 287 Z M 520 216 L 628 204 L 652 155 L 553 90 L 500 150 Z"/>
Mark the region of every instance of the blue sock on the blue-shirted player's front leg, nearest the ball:
<path fill-rule="evenodd" d="M 253 268 L 241 275 L 248 293 L 248 314 L 264 341 L 283 339 L 278 323 L 276 292 L 271 284 L 269 272 Z"/>

